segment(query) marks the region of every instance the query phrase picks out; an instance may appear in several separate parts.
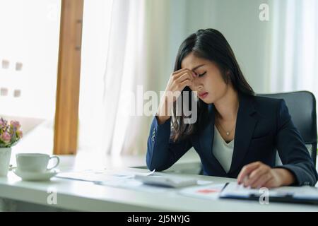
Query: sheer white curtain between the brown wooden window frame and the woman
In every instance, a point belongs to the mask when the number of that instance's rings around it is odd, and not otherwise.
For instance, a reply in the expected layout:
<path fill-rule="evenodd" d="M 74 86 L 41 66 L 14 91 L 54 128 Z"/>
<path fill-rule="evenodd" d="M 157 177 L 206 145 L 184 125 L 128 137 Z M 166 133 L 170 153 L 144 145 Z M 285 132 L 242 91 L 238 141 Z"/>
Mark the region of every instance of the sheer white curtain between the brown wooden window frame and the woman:
<path fill-rule="evenodd" d="M 144 117 L 129 112 L 137 85 L 147 82 L 144 22 L 143 0 L 86 2 L 79 151 L 119 155 L 145 148 L 136 143 L 146 135 Z"/>

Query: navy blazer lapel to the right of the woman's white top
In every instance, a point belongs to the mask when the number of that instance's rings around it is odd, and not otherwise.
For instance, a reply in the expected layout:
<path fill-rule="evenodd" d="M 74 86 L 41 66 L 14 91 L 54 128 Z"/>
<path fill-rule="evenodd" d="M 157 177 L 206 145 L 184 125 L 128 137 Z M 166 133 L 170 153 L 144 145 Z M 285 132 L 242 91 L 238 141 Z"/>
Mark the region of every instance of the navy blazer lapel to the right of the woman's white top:
<path fill-rule="evenodd" d="M 252 138 L 257 118 L 254 116 L 254 105 L 252 98 L 244 95 L 239 95 L 240 105 L 237 112 L 234 150 L 232 155 L 232 164 L 228 174 L 235 172 L 242 164 L 242 161 L 247 154 L 249 148 L 249 141 Z"/>

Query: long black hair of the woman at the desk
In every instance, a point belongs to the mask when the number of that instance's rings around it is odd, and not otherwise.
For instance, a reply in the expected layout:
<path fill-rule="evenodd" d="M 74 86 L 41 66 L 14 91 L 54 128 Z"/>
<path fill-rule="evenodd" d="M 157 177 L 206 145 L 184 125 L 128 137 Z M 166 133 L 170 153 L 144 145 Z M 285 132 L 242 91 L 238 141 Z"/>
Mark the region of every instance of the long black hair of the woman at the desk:
<path fill-rule="evenodd" d="M 192 52 L 196 57 L 213 61 L 218 66 L 218 69 L 220 69 L 225 83 L 229 83 L 230 81 L 233 88 L 237 90 L 237 93 L 254 95 L 252 87 L 247 83 L 240 66 L 237 64 L 230 44 L 228 44 L 228 41 L 221 32 L 208 28 L 200 29 L 189 35 L 179 47 L 175 61 L 175 71 L 181 69 L 182 60 Z M 184 88 L 181 94 L 182 102 L 184 91 L 191 93 L 188 86 Z M 189 100 L 189 107 L 191 109 L 191 99 Z M 183 112 L 181 116 L 177 116 L 176 110 L 175 102 L 172 114 L 173 141 L 180 141 L 198 132 L 206 124 L 206 120 L 208 120 L 208 105 L 202 100 L 197 102 L 197 120 L 194 124 L 185 124 Z"/>

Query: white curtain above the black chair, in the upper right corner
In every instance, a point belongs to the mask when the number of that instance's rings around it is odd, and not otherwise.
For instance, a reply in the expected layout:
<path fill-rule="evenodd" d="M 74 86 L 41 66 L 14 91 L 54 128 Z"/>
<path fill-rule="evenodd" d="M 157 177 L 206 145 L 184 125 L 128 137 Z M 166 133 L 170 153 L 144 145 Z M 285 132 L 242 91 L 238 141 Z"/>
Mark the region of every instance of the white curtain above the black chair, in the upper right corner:
<path fill-rule="evenodd" d="M 318 98 L 318 1 L 272 1 L 270 91 Z"/>

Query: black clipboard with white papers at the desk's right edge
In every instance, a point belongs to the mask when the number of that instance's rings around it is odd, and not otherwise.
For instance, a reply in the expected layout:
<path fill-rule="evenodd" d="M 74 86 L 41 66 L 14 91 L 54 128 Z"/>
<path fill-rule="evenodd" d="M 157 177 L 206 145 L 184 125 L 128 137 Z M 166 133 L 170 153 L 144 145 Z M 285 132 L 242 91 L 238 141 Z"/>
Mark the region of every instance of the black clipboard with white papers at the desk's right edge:
<path fill-rule="evenodd" d="M 269 201 L 288 203 L 318 203 L 318 189 L 312 186 L 282 186 L 276 189 L 249 189 L 237 182 L 228 183 L 220 198 L 259 200 L 268 196 Z"/>

